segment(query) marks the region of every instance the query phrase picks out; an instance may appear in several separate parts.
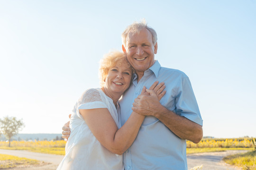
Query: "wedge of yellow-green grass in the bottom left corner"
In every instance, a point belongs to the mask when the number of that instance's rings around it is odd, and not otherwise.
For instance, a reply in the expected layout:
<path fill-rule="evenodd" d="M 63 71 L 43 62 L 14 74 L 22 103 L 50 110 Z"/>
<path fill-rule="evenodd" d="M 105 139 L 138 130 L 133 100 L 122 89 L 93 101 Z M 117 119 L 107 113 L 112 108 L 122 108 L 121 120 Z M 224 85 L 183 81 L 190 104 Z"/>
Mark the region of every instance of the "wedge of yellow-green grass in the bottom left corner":
<path fill-rule="evenodd" d="M 39 164 L 40 164 L 40 161 L 37 161 L 34 159 L 27 159 L 27 158 L 21 158 L 18 156 L 0 154 L 0 170 L 15 168 L 15 167 L 35 166 Z"/>

